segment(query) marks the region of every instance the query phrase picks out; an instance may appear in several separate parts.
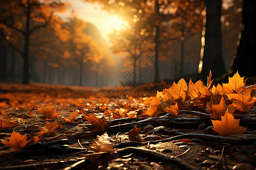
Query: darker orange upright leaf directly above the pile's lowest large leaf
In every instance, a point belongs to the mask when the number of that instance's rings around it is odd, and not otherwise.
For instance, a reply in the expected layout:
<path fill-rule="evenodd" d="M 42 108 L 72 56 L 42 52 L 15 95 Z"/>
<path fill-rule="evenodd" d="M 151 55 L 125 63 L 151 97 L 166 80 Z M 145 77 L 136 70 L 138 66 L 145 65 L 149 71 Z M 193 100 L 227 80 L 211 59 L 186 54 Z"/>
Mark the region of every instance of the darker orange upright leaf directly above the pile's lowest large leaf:
<path fill-rule="evenodd" d="M 224 116 L 228 106 L 225 103 L 224 97 L 221 97 L 220 104 L 212 105 L 212 114 L 210 117 L 214 120 L 221 120 L 221 116 Z"/>

